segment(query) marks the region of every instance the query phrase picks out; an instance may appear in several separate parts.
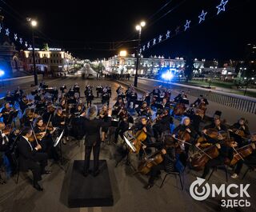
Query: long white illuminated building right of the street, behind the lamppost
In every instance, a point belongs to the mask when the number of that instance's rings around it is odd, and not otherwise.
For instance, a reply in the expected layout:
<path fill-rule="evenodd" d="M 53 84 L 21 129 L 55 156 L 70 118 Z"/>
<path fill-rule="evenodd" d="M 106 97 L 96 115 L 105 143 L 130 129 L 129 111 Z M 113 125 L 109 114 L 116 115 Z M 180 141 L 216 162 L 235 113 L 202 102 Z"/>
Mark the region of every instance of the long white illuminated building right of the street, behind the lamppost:
<path fill-rule="evenodd" d="M 115 55 L 112 58 L 104 61 L 106 71 L 109 73 L 117 74 L 135 74 L 137 58 L 134 54 L 121 57 Z M 186 61 L 184 58 L 164 58 L 151 56 L 150 58 L 139 58 L 138 74 L 141 75 L 156 75 L 160 74 L 164 70 L 171 70 L 174 74 L 183 74 Z M 204 61 L 194 60 L 194 67 L 197 70 L 201 70 L 204 66 Z"/>

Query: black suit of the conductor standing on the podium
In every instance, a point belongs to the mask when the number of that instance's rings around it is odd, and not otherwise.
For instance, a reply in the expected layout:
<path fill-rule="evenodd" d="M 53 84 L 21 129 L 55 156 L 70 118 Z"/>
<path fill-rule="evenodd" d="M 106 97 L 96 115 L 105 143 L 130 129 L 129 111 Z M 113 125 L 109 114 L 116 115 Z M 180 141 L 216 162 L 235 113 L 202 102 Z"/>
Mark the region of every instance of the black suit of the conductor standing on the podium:
<path fill-rule="evenodd" d="M 98 159 L 99 159 L 99 151 L 101 145 L 101 136 L 100 136 L 100 128 L 107 127 L 111 124 L 111 118 L 108 117 L 106 122 L 101 119 L 92 119 L 89 120 L 84 118 L 83 120 L 83 128 L 86 134 L 85 138 L 85 163 L 84 163 L 84 171 L 88 173 L 90 167 L 90 153 L 93 150 L 94 153 L 94 172 L 98 171 Z"/>

